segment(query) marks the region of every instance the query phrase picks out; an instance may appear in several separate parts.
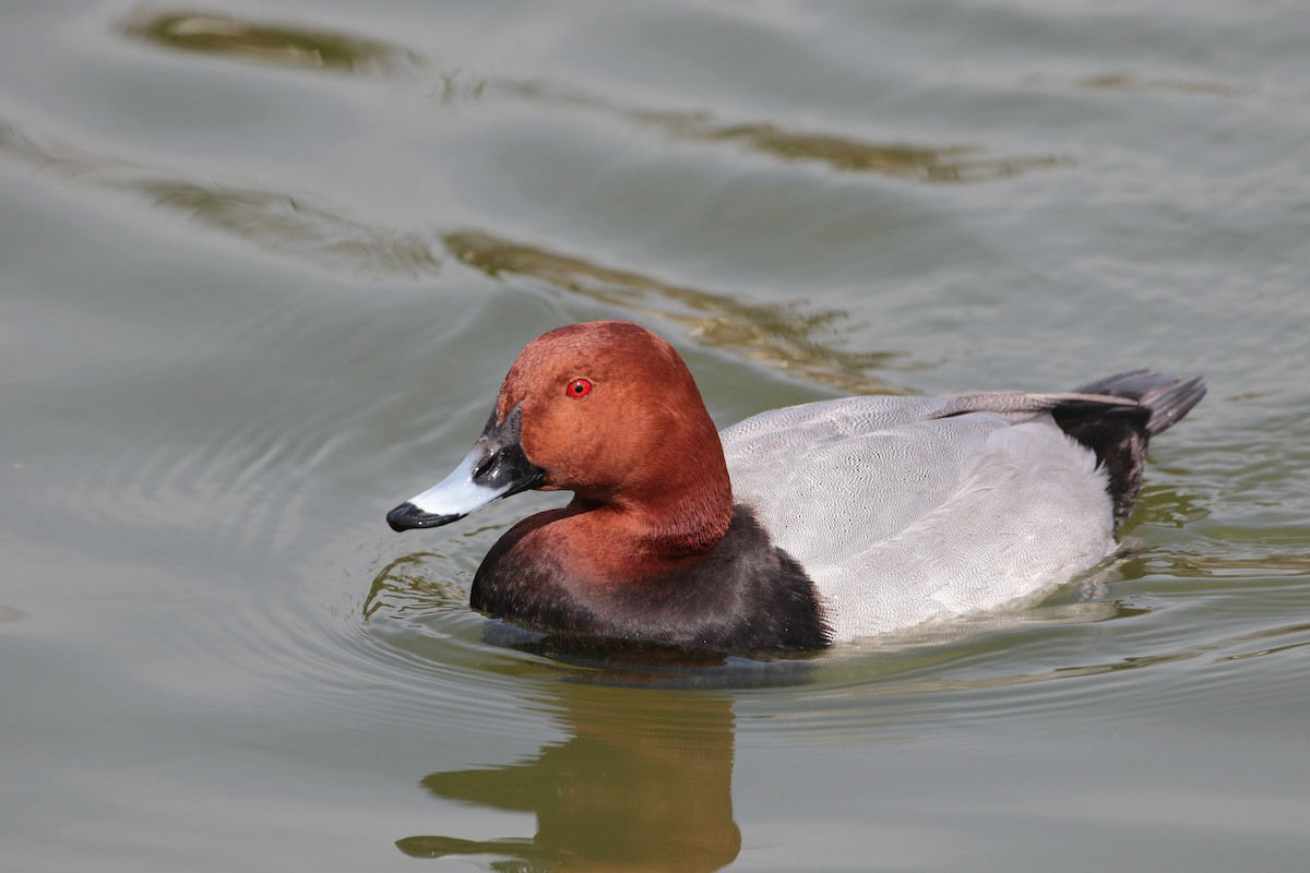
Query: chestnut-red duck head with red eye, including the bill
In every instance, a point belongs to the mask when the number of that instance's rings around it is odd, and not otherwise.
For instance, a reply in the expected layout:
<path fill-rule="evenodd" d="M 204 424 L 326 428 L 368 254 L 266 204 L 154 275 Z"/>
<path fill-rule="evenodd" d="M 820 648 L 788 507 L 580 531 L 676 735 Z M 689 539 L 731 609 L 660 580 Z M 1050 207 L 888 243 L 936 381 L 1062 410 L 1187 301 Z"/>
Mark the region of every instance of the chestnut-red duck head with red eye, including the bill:
<path fill-rule="evenodd" d="M 574 513 L 694 552 L 727 533 L 732 491 L 718 431 L 672 346 L 621 321 L 542 334 L 510 368 L 464 461 L 386 516 L 394 530 L 445 525 L 527 490 L 571 491 Z"/>

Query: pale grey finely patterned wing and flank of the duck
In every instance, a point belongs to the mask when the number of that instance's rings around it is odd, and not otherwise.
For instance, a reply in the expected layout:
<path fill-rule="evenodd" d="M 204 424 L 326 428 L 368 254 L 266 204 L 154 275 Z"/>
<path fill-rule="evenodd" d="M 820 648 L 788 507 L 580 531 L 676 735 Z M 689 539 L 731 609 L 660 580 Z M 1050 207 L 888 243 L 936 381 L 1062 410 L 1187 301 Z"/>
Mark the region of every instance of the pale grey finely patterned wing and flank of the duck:
<path fill-rule="evenodd" d="M 1096 454 L 1052 418 L 1090 394 L 859 397 L 722 432 L 734 496 L 795 558 L 834 639 L 993 609 L 1114 548 Z M 1129 402 L 1131 403 L 1131 402 Z"/>

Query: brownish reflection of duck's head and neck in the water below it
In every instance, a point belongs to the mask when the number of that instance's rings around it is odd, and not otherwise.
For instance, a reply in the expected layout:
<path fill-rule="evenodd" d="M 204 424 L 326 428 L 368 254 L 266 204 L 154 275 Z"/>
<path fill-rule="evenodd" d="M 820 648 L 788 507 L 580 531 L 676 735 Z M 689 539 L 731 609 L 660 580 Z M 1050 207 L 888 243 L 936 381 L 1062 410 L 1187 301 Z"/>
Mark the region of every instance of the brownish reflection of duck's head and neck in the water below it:
<path fill-rule="evenodd" d="M 741 832 L 732 818 L 731 700 L 660 688 L 553 687 L 570 738 L 529 760 L 434 772 L 434 797 L 533 813 L 532 838 L 418 835 L 414 857 L 487 855 L 494 870 L 717 870 Z"/>

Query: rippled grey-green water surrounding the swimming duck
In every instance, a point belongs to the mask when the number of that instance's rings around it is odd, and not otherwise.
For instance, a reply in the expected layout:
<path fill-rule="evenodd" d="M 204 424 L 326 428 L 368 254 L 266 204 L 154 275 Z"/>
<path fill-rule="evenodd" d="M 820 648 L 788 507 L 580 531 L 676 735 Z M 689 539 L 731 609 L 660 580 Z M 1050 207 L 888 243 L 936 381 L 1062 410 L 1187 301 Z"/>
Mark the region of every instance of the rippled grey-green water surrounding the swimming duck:
<path fill-rule="evenodd" d="M 1310 13 L 1292 3 L 10 0 L 5 869 L 1301 870 Z M 1210 395 L 1036 607 L 625 665 L 398 537 L 541 330 L 728 424 Z"/>

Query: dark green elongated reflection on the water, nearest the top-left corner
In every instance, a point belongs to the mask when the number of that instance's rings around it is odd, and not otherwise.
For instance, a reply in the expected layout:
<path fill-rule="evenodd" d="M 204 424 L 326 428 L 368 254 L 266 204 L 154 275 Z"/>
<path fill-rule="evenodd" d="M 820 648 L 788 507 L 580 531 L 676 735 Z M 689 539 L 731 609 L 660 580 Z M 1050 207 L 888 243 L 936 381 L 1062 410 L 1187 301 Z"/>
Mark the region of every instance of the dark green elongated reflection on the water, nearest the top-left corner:
<path fill-rule="evenodd" d="M 308 69 L 394 72 L 422 65 L 409 50 L 352 34 L 269 25 L 231 14 L 143 13 L 122 26 L 132 39 L 232 60 Z"/>

